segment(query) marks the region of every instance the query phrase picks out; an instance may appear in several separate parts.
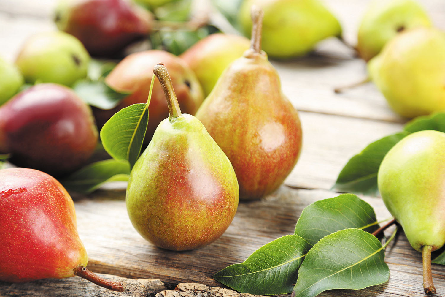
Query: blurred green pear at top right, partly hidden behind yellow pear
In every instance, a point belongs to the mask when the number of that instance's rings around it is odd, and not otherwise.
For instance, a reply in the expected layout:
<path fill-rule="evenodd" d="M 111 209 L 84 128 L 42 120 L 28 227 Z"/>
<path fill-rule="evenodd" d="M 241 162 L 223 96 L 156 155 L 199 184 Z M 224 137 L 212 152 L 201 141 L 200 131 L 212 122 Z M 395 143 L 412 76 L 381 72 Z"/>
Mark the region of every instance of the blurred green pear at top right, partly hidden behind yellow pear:
<path fill-rule="evenodd" d="M 356 49 L 368 61 L 398 33 L 417 27 L 431 27 L 431 20 L 416 1 L 374 0 L 360 23 Z"/>

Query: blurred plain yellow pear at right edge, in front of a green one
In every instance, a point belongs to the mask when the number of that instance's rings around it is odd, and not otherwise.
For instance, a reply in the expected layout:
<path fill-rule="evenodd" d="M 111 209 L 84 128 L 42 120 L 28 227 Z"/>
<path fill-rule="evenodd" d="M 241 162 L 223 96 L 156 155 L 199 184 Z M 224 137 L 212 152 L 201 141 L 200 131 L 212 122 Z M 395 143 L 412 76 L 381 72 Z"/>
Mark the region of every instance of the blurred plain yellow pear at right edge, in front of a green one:
<path fill-rule="evenodd" d="M 445 110 L 445 34 L 415 28 L 397 35 L 368 62 L 368 73 L 397 114 Z"/>

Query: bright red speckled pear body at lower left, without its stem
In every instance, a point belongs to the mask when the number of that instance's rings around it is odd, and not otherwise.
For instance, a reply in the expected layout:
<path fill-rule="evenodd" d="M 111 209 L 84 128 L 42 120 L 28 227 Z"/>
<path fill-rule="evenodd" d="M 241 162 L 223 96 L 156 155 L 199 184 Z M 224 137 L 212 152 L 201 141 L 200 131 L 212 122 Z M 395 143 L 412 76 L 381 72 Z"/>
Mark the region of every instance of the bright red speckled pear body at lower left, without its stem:
<path fill-rule="evenodd" d="M 52 176 L 0 170 L 0 208 L 0 281 L 73 277 L 87 264 L 73 200 Z"/>

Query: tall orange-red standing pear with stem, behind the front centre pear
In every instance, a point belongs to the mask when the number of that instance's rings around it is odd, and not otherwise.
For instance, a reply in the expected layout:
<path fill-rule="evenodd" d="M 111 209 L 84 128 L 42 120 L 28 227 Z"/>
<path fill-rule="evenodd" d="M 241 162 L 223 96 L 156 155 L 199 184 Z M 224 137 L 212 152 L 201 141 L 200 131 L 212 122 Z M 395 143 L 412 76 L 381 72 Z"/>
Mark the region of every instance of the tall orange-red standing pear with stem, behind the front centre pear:
<path fill-rule="evenodd" d="M 262 16 L 255 7 L 251 49 L 229 65 L 196 113 L 231 161 L 240 199 L 259 199 L 278 188 L 301 150 L 297 110 L 261 50 Z"/>

